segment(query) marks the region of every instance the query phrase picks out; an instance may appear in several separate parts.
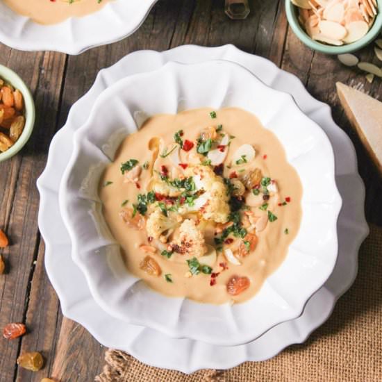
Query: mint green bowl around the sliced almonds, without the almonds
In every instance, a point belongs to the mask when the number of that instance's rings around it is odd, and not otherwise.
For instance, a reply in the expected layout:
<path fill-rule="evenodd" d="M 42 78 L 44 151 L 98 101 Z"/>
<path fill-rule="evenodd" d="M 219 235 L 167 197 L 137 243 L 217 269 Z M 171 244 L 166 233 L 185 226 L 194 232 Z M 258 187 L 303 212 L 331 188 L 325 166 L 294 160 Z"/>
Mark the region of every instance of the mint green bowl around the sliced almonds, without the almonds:
<path fill-rule="evenodd" d="M 306 46 L 310 49 L 326 54 L 342 54 L 358 51 L 377 38 L 382 28 L 382 0 L 377 0 L 377 2 L 379 12 L 376 15 L 372 28 L 370 28 L 367 34 L 360 40 L 352 42 L 351 44 L 341 45 L 340 47 L 322 44 L 322 42 L 318 42 L 310 38 L 299 23 L 297 6 L 294 6 L 290 0 L 285 0 L 285 10 L 292 31 L 294 31 L 297 37 L 304 42 Z"/>

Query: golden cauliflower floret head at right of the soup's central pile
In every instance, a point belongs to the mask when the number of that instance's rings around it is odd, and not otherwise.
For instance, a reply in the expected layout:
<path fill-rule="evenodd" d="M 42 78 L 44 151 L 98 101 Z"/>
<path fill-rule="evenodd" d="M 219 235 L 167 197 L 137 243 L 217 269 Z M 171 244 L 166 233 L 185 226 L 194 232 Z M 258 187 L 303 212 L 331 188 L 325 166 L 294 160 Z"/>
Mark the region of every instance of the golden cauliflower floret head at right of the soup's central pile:
<path fill-rule="evenodd" d="M 215 182 L 208 192 L 206 192 L 206 204 L 201 206 L 201 214 L 206 220 L 213 220 L 216 223 L 226 223 L 229 220 L 229 196 L 226 185 Z"/>

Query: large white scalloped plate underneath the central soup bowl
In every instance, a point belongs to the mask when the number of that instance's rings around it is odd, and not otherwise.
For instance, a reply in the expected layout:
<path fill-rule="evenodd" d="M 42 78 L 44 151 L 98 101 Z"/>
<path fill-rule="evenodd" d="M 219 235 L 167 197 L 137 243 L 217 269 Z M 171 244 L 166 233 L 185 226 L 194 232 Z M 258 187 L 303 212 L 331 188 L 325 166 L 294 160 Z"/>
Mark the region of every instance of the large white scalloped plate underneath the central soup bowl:
<path fill-rule="evenodd" d="M 125 76 L 158 69 L 168 60 L 197 63 L 215 59 L 240 63 L 272 88 L 292 90 L 301 110 L 315 120 L 331 140 L 336 182 L 343 201 L 338 219 L 338 260 L 324 286 L 310 297 L 300 317 L 274 326 L 260 338 L 238 347 L 173 339 L 108 315 L 94 301 L 85 276 L 72 261 L 72 244 L 58 206 L 59 184 L 72 155 L 74 132 L 88 119 L 94 101 L 104 89 Z M 90 91 L 70 110 L 67 124 L 53 138 L 38 188 L 41 195 L 39 226 L 46 243 L 45 265 L 64 315 L 85 326 L 106 347 L 124 350 L 148 365 L 185 373 L 203 368 L 228 369 L 248 360 L 266 360 L 290 344 L 304 342 L 326 321 L 335 301 L 353 283 L 358 249 L 368 233 L 363 209 L 365 189 L 357 172 L 356 153 L 347 135 L 333 122 L 330 108 L 313 99 L 297 77 L 282 71 L 269 60 L 244 53 L 232 45 L 217 48 L 184 46 L 163 53 L 138 51 L 101 70 Z"/>

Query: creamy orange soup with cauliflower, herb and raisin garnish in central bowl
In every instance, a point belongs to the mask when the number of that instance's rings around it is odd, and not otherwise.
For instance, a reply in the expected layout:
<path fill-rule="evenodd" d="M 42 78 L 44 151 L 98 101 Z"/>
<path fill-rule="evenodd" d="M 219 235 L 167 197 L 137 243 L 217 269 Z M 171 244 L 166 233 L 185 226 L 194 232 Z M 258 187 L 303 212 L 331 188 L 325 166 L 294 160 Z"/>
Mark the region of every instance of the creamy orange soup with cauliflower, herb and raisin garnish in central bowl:
<path fill-rule="evenodd" d="M 128 272 L 208 304 L 260 290 L 299 231 L 301 194 L 281 142 L 238 108 L 151 117 L 99 185 Z"/>

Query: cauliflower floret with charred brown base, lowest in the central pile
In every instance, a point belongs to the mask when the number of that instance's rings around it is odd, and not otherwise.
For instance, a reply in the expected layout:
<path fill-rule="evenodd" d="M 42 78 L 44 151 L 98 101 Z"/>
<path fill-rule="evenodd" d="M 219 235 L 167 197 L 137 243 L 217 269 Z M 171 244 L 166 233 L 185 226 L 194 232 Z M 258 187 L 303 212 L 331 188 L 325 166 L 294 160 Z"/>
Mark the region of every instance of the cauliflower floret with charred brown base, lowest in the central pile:
<path fill-rule="evenodd" d="M 204 235 L 197 228 L 194 220 L 185 219 L 179 229 L 176 242 L 173 243 L 174 251 L 194 257 L 203 256 L 206 251 Z"/>

